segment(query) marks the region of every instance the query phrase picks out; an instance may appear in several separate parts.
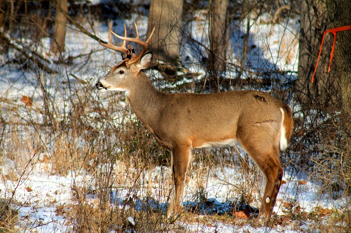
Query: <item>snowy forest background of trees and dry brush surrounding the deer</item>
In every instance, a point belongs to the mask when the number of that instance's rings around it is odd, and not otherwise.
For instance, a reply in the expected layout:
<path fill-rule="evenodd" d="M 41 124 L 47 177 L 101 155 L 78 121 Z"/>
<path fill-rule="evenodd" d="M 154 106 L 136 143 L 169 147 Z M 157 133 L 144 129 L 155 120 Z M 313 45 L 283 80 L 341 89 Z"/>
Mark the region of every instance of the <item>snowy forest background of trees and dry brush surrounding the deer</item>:
<path fill-rule="evenodd" d="M 94 89 L 121 59 L 98 43 L 108 39 L 112 20 L 117 34 L 123 22 L 128 36 L 135 36 L 134 21 L 143 38 L 156 28 L 147 72 L 159 90 L 259 89 L 288 103 L 294 133 L 281 154 L 287 183 L 269 227 L 349 231 L 351 30 L 337 32 L 330 72 L 333 36 L 325 36 L 310 81 L 323 32 L 351 25 L 349 12 L 343 0 L 1 1 L 0 229 L 267 229 L 252 207 L 264 177 L 240 147 L 196 151 L 185 213 L 165 218 L 169 151 L 123 93 Z M 301 199 L 310 190 L 313 196 Z"/>

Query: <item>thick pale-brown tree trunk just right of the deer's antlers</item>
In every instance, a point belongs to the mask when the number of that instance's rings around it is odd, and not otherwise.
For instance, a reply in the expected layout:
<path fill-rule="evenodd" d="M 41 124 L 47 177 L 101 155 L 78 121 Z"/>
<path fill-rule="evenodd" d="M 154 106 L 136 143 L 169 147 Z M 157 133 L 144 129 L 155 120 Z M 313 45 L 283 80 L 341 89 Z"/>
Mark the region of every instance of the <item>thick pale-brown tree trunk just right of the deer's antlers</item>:
<path fill-rule="evenodd" d="M 151 0 L 147 36 L 155 27 L 149 48 L 156 59 L 162 61 L 178 59 L 182 14 L 183 0 Z"/>

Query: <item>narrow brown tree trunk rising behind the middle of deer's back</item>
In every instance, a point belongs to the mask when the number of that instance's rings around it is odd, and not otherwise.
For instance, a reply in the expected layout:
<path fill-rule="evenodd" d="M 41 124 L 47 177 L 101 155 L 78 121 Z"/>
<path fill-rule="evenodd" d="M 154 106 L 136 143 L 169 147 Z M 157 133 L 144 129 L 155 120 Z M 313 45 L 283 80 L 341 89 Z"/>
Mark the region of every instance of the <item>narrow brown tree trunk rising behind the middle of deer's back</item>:
<path fill-rule="evenodd" d="M 226 58 L 227 48 L 227 7 L 228 0 L 210 0 L 210 48 L 208 70 L 210 87 L 219 91 L 219 73 L 224 71 L 224 64 L 218 56 Z"/>

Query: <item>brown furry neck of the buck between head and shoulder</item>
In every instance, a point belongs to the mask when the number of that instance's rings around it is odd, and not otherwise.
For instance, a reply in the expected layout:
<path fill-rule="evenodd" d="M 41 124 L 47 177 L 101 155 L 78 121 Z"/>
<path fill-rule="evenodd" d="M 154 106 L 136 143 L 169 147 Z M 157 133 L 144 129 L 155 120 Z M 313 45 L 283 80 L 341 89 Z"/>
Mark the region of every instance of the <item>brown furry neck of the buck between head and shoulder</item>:
<path fill-rule="evenodd" d="M 128 100 L 135 115 L 146 125 L 157 118 L 166 94 L 158 91 L 146 74 L 140 73 L 129 89 Z"/>

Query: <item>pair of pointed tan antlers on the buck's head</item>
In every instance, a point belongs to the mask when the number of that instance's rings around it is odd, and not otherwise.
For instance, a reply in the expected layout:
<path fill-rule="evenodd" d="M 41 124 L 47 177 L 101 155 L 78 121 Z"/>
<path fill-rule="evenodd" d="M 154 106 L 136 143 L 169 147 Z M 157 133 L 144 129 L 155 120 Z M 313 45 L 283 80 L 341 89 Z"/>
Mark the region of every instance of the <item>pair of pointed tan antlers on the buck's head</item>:
<path fill-rule="evenodd" d="M 150 41 L 151 36 L 155 30 L 155 28 L 153 28 L 148 39 L 146 41 L 142 41 L 139 37 L 138 28 L 136 27 L 135 22 L 134 22 L 134 26 L 135 26 L 135 32 L 136 32 L 135 38 L 131 38 L 131 37 L 126 36 L 127 30 L 126 30 L 125 24 L 124 24 L 124 36 L 120 36 L 112 31 L 112 21 L 110 21 L 108 24 L 108 43 L 102 43 L 99 39 L 99 43 L 102 46 L 107 47 L 107 48 L 111 48 L 111 49 L 116 50 L 116 51 L 120 51 L 122 53 L 125 53 L 126 56 L 122 55 L 122 57 L 123 57 L 123 60 L 126 61 L 127 66 L 134 64 L 136 61 L 138 61 L 141 58 L 142 55 L 144 55 L 144 53 L 146 52 L 147 47 L 148 47 L 148 42 Z M 120 38 L 123 40 L 122 46 L 116 46 L 116 45 L 112 44 L 111 34 L 114 34 L 117 38 Z M 126 41 L 135 42 L 137 44 L 140 44 L 142 46 L 142 51 L 136 55 L 134 52 L 134 49 L 131 45 L 128 44 L 128 48 L 126 47 Z M 128 59 L 128 60 L 126 60 L 126 59 Z"/>

